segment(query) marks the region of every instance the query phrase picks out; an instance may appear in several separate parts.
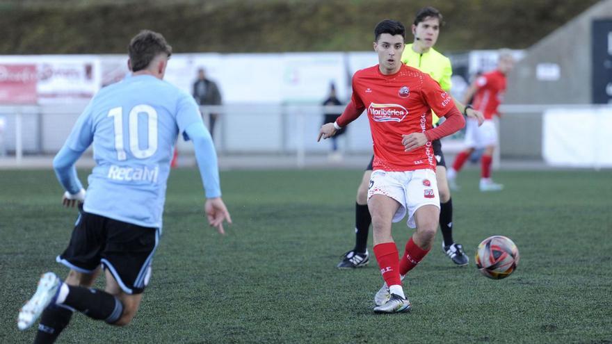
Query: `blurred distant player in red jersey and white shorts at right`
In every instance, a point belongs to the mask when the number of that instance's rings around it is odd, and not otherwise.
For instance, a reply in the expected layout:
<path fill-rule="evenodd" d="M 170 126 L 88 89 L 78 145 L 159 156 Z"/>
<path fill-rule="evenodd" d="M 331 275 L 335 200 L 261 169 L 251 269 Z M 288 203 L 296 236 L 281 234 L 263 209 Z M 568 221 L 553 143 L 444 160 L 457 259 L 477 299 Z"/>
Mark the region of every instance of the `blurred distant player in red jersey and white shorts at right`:
<path fill-rule="evenodd" d="M 483 192 L 499 191 L 504 188 L 503 185 L 494 183 L 491 179 L 493 152 L 498 142 L 493 117 L 499 116 L 497 108 L 501 104 L 506 91 L 506 74 L 510 72 L 513 65 L 514 58 L 510 51 L 500 51 L 497 69 L 479 76 L 465 93 L 466 100 L 474 97 L 473 106 L 485 115 L 485 122 L 478 126 L 474 120 L 467 120 L 465 127 L 465 146 L 467 148 L 456 156 L 453 167 L 449 169 L 447 175 L 449 184 L 454 188 L 456 188 L 457 173 L 474 149 L 485 149 L 481 157 L 480 190 Z"/>

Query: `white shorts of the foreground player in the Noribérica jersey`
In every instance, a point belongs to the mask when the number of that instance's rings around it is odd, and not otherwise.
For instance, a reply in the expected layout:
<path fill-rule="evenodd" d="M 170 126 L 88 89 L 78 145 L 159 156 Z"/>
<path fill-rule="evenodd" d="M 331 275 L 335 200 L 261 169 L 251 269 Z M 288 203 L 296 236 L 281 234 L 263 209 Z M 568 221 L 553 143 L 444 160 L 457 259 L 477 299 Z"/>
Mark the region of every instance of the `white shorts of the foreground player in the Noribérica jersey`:
<path fill-rule="evenodd" d="M 373 195 L 385 195 L 399 202 L 400 207 L 393 216 L 393 222 L 400 222 L 408 209 L 408 227 L 416 228 L 414 213 L 421 206 L 431 204 L 440 208 L 435 172 L 429 169 L 386 172 L 376 170 L 370 177 L 368 200 Z"/>

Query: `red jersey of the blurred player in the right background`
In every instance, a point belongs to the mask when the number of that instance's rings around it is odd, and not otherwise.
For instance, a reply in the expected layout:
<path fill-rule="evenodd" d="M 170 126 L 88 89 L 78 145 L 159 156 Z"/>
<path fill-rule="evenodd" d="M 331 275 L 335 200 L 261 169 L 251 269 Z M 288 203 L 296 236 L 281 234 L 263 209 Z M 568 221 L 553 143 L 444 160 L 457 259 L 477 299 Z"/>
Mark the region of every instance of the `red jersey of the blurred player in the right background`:
<path fill-rule="evenodd" d="M 488 72 L 476 79 L 476 94 L 472 106 L 485 115 L 485 120 L 491 120 L 497 115 L 497 107 L 504 100 L 506 92 L 506 75 L 499 70 Z"/>

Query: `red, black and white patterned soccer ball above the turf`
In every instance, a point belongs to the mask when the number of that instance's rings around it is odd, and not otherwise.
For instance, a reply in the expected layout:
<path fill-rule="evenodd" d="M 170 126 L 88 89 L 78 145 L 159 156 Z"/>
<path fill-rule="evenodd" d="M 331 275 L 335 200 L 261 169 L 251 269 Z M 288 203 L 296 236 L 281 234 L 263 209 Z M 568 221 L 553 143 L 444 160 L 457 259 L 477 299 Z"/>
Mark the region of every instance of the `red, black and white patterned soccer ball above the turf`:
<path fill-rule="evenodd" d="M 505 236 L 490 236 L 476 250 L 476 268 L 491 279 L 510 276 L 518 263 L 519 249 Z"/>

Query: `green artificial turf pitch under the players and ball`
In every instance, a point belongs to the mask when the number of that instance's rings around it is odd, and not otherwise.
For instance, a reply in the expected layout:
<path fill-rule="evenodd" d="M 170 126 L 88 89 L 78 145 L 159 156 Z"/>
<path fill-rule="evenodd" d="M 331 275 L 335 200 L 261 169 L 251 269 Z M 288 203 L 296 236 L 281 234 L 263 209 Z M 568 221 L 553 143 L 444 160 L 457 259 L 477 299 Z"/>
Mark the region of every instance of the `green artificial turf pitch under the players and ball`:
<path fill-rule="evenodd" d="M 85 180 L 85 172 L 81 171 Z M 612 343 L 612 173 L 497 172 L 481 194 L 476 171 L 453 194 L 456 268 L 441 236 L 408 275 L 411 313 L 372 313 L 376 260 L 340 271 L 353 247 L 360 170 L 234 171 L 221 175 L 234 224 L 204 224 L 197 170 L 175 170 L 154 273 L 131 325 L 77 314 L 60 343 Z M 0 343 L 29 343 L 17 311 L 54 261 L 76 218 L 51 171 L 0 171 Z M 399 247 L 412 234 L 394 225 Z M 520 249 L 517 271 L 494 281 L 474 267 L 493 234 Z M 401 249 L 403 251 L 403 249 Z M 102 283 L 98 284 L 102 286 Z"/>

